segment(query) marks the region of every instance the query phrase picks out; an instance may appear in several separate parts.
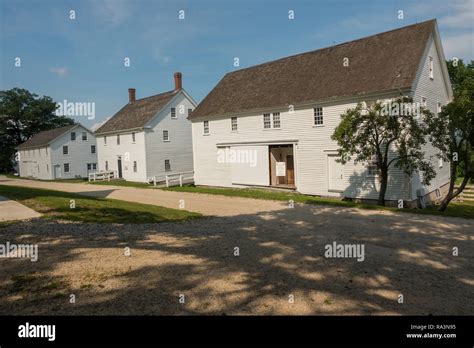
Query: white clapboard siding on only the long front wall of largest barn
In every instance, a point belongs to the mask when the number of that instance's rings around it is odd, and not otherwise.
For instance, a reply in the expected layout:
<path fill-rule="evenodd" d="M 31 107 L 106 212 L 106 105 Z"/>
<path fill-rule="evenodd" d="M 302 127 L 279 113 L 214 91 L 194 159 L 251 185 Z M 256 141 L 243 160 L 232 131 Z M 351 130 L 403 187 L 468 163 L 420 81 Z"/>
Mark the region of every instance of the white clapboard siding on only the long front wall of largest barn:
<path fill-rule="evenodd" d="M 368 177 L 364 164 L 347 163 L 344 166 L 343 193 L 328 189 L 327 156 L 334 154 L 337 144 L 330 139 L 340 121 L 340 115 L 354 107 L 356 101 L 344 104 L 325 103 L 323 126 L 313 125 L 313 108 L 289 110 L 268 110 L 280 112 L 281 128 L 264 129 L 263 113 L 238 117 L 238 131 L 231 131 L 230 116 L 210 119 L 210 133 L 203 132 L 203 120 L 193 122 L 195 182 L 198 185 L 232 186 L 231 165 L 217 162 L 217 144 L 238 142 L 287 142 L 297 140 L 295 150 L 295 176 L 297 190 L 301 193 L 327 196 L 348 196 L 377 198 L 378 183 Z M 405 174 L 392 170 L 389 181 L 388 199 L 408 199 L 409 186 Z"/>

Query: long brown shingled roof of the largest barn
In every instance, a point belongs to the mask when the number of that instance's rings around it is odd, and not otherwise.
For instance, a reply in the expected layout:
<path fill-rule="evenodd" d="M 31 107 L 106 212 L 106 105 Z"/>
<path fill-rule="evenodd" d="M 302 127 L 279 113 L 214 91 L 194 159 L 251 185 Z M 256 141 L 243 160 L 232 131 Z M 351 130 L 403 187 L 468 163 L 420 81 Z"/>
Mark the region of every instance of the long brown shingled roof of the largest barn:
<path fill-rule="evenodd" d="M 410 88 L 435 25 L 430 20 L 228 73 L 190 119 Z"/>

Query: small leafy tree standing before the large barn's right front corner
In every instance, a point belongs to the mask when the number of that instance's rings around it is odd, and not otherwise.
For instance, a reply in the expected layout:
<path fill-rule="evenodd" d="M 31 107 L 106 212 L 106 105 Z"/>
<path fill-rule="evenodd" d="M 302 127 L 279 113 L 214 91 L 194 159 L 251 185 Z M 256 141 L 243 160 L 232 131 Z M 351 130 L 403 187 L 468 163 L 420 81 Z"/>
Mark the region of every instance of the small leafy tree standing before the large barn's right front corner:
<path fill-rule="evenodd" d="M 410 175 L 423 173 L 423 182 L 435 177 L 430 161 L 425 159 L 422 146 L 426 143 L 426 128 L 412 105 L 412 99 L 400 97 L 392 103 L 362 103 L 341 115 L 341 122 L 332 139 L 339 145 L 340 162 L 352 158 L 356 162 L 371 162 L 379 172 L 380 191 L 378 204 L 385 205 L 385 194 L 390 171 L 396 167 Z M 420 112 L 425 112 L 420 110 Z"/>

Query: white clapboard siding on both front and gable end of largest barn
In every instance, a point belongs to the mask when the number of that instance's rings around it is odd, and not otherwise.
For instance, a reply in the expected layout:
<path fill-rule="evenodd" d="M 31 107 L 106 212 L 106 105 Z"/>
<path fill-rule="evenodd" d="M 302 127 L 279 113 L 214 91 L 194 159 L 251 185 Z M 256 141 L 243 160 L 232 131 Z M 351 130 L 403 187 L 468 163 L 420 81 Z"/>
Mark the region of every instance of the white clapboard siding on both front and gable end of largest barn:
<path fill-rule="evenodd" d="M 434 79 L 429 77 L 429 56 L 434 60 Z M 422 96 L 426 97 L 428 107 L 432 111 L 436 111 L 438 102 L 442 105 L 448 103 L 451 87 L 449 80 L 446 78 L 443 80 L 441 74 L 441 66 L 444 61 L 439 33 L 435 29 L 432 38 L 427 42 L 426 51 L 420 62 L 413 86 L 402 92 L 411 94 L 415 102 L 420 102 Z M 445 74 L 444 77 L 447 75 Z M 299 192 L 324 196 L 377 199 L 380 183 L 378 178 L 368 175 L 367 163 L 354 163 L 353 161 L 346 163 L 342 168 L 343 178 L 340 185 L 344 189 L 340 190 L 342 192 L 329 190 L 328 156 L 337 153 L 337 144 L 330 137 L 340 122 L 340 115 L 348 108 L 354 107 L 358 101 L 380 100 L 398 96 L 399 92 L 394 92 L 393 94 L 364 96 L 360 99 L 341 99 L 298 106 L 293 112 L 287 109 L 266 109 L 261 112 L 211 117 L 208 119 L 209 134 L 204 134 L 203 130 L 203 121 L 206 118 L 194 119 L 195 182 L 197 185 L 232 186 L 232 166 L 217 162 L 219 144 L 293 143 L 295 144 L 295 182 Z M 323 126 L 313 125 L 314 107 L 323 107 Z M 273 112 L 280 112 L 281 128 L 264 129 L 263 113 Z M 231 117 L 238 117 L 237 132 L 231 131 Z M 433 161 L 437 171 L 437 176 L 431 185 L 423 187 L 418 173 L 409 177 L 401 170 L 391 167 L 386 199 L 414 200 L 418 189 L 424 188 L 425 193 L 429 193 L 448 182 L 448 163 L 444 163 L 442 167 L 439 166 L 439 160 L 435 156 L 437 151 L 431 145 L 427 145 L 425 151 L 427 158 Z M 335 165 L 333 168 L 337 169 L 339 177 L 341 168 Z"/>

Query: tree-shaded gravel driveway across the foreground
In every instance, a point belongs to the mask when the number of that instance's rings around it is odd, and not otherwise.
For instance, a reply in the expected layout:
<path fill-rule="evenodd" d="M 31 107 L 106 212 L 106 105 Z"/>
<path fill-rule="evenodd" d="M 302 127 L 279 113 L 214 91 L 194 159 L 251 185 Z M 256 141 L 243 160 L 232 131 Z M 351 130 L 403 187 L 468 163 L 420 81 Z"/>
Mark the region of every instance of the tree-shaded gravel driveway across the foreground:
<path fill-rule="evenodd" d="M 38 262 L 0 259 L 0 314 L 472 314 L 473 232 L 305 205 L 149 225 L 35 219 L 0 228 L 0 243 L 39 244 Z M 334 241 L 364 245 L 364 261 L 326 258 Z"/>

